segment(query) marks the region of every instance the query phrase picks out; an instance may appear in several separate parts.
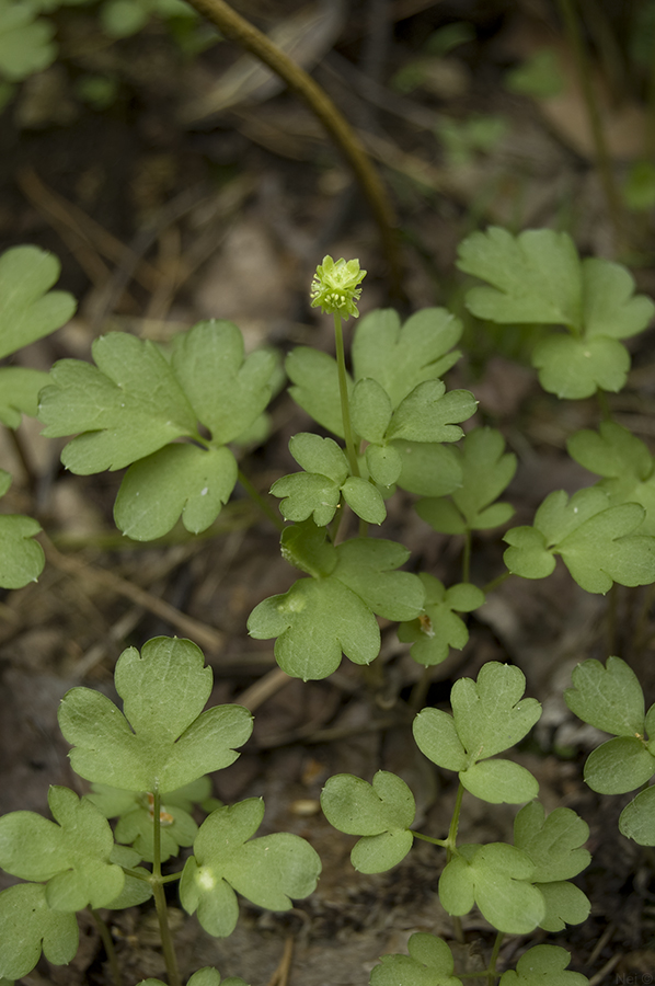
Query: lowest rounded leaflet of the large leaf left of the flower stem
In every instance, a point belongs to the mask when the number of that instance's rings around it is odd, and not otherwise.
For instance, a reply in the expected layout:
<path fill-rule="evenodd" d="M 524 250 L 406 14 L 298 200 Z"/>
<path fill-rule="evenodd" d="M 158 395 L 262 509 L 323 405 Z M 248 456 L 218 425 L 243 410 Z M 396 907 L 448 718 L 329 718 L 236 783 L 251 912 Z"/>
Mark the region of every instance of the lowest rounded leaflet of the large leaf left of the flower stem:
<path fill-rule="evenodd" d="M 230 498 L 237 474 L 228 448 L 166 445 L 127 470 L 114 505 L 116 526 L 137 541 L 151 541 L 182 516 L 186 530 L 199 534 Z"/>

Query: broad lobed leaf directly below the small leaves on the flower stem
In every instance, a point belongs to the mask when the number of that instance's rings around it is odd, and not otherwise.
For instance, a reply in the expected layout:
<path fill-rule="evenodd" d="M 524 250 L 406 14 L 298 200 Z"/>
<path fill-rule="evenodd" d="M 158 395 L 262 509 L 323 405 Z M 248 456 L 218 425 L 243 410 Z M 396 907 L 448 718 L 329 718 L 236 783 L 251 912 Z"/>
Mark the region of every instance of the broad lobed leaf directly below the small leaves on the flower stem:
<path fill-rule="evenodd" d="M 417 575 L 397 572 L 410 552 L 394 541 L 355 538 L 334 547 L 311 520 L 283 531 L 283 554 L 311 577 L 260 603 L 248 631 L 277 638 L 275 658 L 288 675 L 325 678 L 342 660 L 370 664 L 380 651 L 376 614 L 390 620 L 416 618 L 424 589 Z"/>

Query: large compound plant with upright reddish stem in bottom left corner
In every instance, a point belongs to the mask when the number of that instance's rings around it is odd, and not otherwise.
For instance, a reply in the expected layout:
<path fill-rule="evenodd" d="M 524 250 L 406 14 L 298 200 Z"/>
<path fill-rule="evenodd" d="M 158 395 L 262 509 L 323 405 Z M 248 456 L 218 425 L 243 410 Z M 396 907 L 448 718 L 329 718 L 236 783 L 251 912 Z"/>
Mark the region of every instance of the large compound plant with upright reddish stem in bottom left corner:
<path fill-rule="evenodd" d="M 64 697 L 59 723 L 72 744 L 71 766 L 94 793 L 78 798 L 53 787 L 55 822 L 32 812 L 0 819 L 0 865 L 28 881 L 0 893 L 0 975 L 26 975 L 42 949 L 55 964 L 70 962 L 78 948 L 76 912 L 153 897 L 169 983 L 175 986 L 181 981 L 166 884 L 180 881 L 182 906 L 197 910 L 203 927 L 218 937 L 237 924 L 235 891 L 262 907 L 286 910 L 291 896 L 314 888 L 321 865 L 308 842 L 290 834 L 253 838 L 264 817 L 262 799 L 216 807 L 199 828 L 188 814 L 207 798 L 204 776 L 232 764 L 234 747 L 252 732 L 252 716 L 241 706 L 203 712 L 212 680 L 203 665 L 191 641 L 157 638 L 140 653 L 124 651 L 116 664 L 123 712 L 89 688 Z M 114 835 L 107 817 L 115 816 Z M 192 845 L 184 869 L 162 875 L 162 862 Z M 140 865 L 142 860 L 152 869 Z M 189 982 L 218 986 L 220 976 L 202 970 Z M 240 978 L 223 982 L 244 986 Z"/>

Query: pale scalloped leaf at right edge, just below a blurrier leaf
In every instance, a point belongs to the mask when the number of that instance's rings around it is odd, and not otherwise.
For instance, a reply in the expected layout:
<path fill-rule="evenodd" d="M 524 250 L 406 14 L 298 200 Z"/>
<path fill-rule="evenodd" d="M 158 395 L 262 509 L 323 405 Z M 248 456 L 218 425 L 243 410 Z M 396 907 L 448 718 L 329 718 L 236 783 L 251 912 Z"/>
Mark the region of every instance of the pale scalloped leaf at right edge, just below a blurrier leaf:
<path fill-rule="evenodd" d="M 555 555 L 588 593 L 607 593 L 612 582 L 650 585 L 655 581 L 655 538 L 637 534 L 645 511 L 636 503 L 612 506 L 593 486 L 571 498 L 563 490 L 545 497 L 532 527 L 513 527 L 505 564 L 522 578 L 544 578 Z"/>

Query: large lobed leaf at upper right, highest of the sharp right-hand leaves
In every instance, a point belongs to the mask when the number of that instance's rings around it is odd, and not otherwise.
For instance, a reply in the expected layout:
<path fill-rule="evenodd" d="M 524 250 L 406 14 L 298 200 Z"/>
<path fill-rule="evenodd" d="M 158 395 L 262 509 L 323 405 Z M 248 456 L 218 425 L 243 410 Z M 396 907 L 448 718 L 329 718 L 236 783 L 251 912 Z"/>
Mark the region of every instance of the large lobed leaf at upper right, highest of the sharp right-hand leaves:
<path fill-rule="evenodd" d="M 564 326 L 537 343 L 532 365 L 544 390 L 560 398 L 619 391 L 630 368 L 619 342 L 646 328 L 655 311 L 620 264 L 581 261 L 566 233 L 527 230 L 513 237 L 492 227 L 460 245 L 460 270 L 492 287 L 474 287 L 467 306 L 474 316 L 503 324 Z"/>

